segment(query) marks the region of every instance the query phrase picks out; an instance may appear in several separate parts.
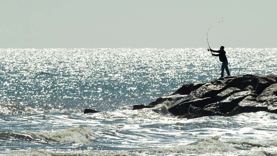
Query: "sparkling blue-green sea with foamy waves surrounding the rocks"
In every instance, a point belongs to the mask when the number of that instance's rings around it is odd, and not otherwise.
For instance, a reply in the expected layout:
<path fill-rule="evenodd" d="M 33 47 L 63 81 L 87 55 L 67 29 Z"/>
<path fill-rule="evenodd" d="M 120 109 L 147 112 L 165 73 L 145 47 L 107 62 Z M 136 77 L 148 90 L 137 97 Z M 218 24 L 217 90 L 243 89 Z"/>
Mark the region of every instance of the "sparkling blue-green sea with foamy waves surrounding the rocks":
<path fill-rule="evenodd" d="M 276 48 L 225 50 L 231 75 L 277 74 Z M 0 49 L 0 154 L 277 155 L 277 114 L 132 110 L 220 66 L 205 48 Z"/>

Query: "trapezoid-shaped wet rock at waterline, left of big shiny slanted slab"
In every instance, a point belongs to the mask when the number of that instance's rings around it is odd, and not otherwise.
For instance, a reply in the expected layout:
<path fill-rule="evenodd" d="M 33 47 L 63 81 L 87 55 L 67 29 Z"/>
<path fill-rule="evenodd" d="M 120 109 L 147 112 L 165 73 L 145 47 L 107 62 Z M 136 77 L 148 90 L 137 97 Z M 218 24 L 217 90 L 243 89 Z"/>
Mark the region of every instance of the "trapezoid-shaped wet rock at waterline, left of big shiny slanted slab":
<path fill-rule="evenodd" d="M 224 116 L 224 114 L 221 112 L 220 107 L 218 103 L 212 103 L 203 108 L 203 111 L 200 114 L 200 117 L 202 116 Z"/>

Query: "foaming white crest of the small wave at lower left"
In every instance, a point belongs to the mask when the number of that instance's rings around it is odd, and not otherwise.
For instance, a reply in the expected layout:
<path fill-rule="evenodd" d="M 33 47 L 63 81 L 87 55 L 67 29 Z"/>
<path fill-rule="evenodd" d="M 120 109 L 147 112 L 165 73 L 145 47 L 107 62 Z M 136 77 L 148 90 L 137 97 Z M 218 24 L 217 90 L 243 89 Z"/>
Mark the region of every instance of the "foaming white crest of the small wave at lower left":
<path fill-rule="evenodd" d="M 89 143 L 95 139 L 94 134 L 90 129 L 82 126 L 70 127 L 66 130 L 59 130 L 48 133 L 34 133 L 28 132 L 36 137 L 51 140 L 59 143 Z"/>

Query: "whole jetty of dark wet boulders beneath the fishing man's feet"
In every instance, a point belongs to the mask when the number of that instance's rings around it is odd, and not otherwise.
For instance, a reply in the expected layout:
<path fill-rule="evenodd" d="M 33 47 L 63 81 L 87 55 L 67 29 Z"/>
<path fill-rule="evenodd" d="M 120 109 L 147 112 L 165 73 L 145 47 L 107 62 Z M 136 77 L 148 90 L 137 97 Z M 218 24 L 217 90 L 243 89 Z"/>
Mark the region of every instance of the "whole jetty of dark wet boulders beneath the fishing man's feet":
<path fill-rule="evenodd" d="M 160 97 L 146 106 L 134 105 L 134 108 L 150 108 L 168 100 L 177 103 L 168 109 L 170 113 L 188 119 L 259 111 L 277 113 L 276 80 L 277 75 L 274 74 L 246 74 L 185 84 L 169 96 Z"/>

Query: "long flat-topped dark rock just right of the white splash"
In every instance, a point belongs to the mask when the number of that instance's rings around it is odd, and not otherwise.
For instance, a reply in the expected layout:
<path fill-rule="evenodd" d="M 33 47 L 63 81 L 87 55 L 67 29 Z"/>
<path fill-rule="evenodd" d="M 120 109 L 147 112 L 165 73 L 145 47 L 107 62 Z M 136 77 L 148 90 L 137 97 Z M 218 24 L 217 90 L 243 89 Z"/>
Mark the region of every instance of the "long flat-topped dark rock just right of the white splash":
<path fill-rule="evenodd" d="M 190 105 L 203 108 L 210 103 L 212 103 L 212 98 L 210 97 L 204 99 L 195 99 L 192 101 L 178 103 L 177 105 L 170 107 L 168 111 L 173 115 L 183 115 L 188 113 L 188 108 Z"/>

